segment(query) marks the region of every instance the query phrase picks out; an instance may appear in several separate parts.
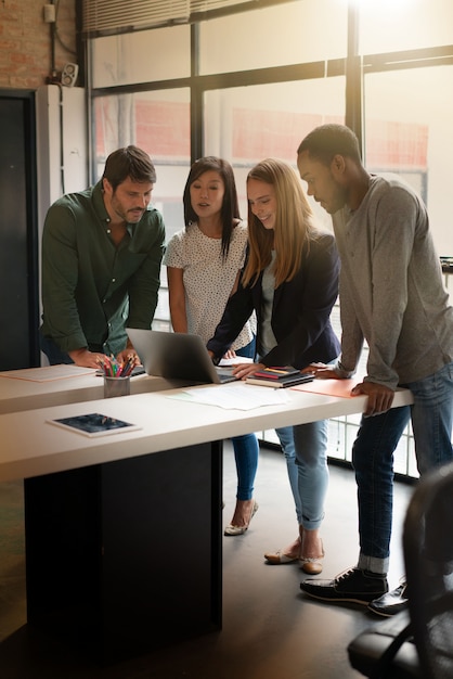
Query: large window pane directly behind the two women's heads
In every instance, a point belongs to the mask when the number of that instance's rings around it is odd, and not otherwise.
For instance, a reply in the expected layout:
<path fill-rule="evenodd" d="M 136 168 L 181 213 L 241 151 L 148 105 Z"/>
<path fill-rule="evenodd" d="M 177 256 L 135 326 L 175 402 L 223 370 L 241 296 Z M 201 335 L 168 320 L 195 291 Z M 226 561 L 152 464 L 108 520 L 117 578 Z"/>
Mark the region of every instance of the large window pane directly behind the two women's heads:
<path fill-rule="evenodd" d="M 205 106 L 206 155 L 233 165 L 245 218 L 245 180 L 256 163 L 274 156 L 296 167 L 297 148 L 313 127 L 345 121 L 345 78 L 215 90 L 206 93 Z M 319 223 L 332 229 L 331 217 L 309 201 Z"/>

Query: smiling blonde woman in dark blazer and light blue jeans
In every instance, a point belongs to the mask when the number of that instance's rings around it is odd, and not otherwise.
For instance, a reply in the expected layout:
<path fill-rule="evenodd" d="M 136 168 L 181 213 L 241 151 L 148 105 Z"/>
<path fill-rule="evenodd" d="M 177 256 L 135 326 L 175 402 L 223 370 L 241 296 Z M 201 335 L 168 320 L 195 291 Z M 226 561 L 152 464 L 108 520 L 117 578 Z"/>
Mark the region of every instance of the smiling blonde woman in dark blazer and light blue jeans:
<path fill-rule="evenodd" d="M 339 259 L 334 236 L 320 231 L 296 171 L 267 158 L 247 176 L 247 260 L 237 292 L 207 347 L 213 360 L 230 348 L 256 311 L 258 362 L 243 363 L 245 380 L 263 367 L 329 362 L 339 354 L 331 311 L 338 295 Z M 327 422 L 276 430 L 286 457 L 299 526 L 294 542 L 264 558 L 269 563 L 298 562 L 309 574 L 322 571 L 320 527 L 328 485 Z"/>

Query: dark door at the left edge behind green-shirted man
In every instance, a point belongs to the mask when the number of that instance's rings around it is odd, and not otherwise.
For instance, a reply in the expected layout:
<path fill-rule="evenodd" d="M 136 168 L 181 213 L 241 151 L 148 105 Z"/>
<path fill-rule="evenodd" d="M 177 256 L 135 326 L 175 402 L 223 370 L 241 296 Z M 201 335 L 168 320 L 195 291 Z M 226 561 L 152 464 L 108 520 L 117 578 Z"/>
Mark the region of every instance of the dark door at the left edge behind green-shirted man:
<path fill-rule="evenodd" d="M 39 364 L 35 93 L 0 90 L 0 370 Z"/>

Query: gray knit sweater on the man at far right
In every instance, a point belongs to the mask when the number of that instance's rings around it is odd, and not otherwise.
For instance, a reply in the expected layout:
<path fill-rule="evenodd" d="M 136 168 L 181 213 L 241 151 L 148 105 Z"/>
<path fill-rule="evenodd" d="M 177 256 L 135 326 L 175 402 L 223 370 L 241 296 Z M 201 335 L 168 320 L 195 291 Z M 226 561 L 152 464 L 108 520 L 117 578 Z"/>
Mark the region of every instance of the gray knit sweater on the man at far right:
<path fill-rule="evenodd" d="M 372 176 L 360 207 L 333 216 L 341 259 L 341 367 L 365 338 L 365 380 L 396 388 L 453 360 L 453 308 L 426 207 L 397 176 Z"/>

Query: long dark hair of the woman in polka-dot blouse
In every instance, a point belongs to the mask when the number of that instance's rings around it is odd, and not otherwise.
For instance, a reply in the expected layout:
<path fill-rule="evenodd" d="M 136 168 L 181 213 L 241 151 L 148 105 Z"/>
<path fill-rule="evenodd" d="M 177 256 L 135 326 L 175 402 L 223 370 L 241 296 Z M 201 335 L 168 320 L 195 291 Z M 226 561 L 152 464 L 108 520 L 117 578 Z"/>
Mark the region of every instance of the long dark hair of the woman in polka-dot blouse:
<path fill-rule="evenodd" d="M 191 201 L 191 185 L 194 181 L 196 181 L 202 175 L 213 170 L 220 175 L 224 185 L 224 194 L 223 202 L 220 212 L 220 217 L 222 221 L 222 257 L 226 258 L 231 235 L 233 233 L 233 229 L 237 223 L 237 220 L 241 221 L 240 216 L 240 204 L 237 201 L 237 192 L 236 192 L 236 182 L 234 180 L 233 168 L 231 167 L 228 161 L 223 161 L 222 158 L 217 158 L 213 155 L 205 156 L 195 161 L 192 165 L 191 170 L 189 172 L 187 181 L 184 187 L 183 194 L 183 203 L 184 203 L 184 223 L 187 229 L 192 223 L 198 220 L 198 217 L 195 210 L 192 207 Z"/>

